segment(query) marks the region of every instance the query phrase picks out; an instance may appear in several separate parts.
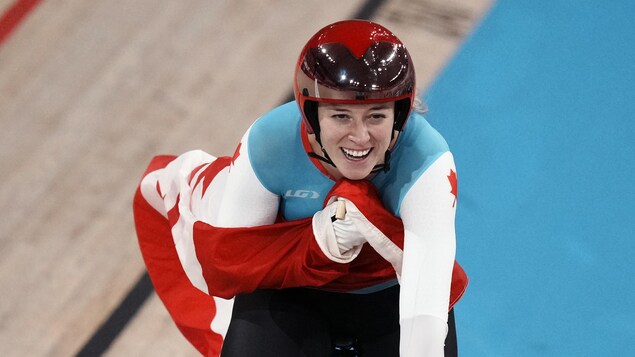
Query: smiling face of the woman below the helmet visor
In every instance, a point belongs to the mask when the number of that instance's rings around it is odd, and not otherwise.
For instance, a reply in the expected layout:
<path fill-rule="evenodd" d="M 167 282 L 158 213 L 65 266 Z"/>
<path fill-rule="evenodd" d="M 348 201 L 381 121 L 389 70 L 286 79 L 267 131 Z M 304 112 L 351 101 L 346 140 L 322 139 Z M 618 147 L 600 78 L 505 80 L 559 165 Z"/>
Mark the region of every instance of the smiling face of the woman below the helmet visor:
<path fill-rule="evenodd" d="M 394 107 L 394 102 L 319 103 L 322 147 L 336 167 L 323 166 L 335 179 L 367 178 L 375 165 L 384 162 L 386 150 L 391 146 Z M 313 135 L 310 140 L 313 150 L 321 153 Z"/>

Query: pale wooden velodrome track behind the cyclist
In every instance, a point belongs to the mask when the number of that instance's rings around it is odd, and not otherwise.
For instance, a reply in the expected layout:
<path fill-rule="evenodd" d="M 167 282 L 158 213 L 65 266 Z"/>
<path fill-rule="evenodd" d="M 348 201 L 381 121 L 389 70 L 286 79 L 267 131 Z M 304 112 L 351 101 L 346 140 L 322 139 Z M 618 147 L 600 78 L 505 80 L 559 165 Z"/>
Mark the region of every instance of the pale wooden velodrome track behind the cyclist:
<path fill-rule="evenodd" d="M 91 341 L 145 273 L 131 200 L 150 158 L 231 154 L 289 98 L 320 27 L 384 24 L 425 90 L 490 2 L 41 1 L 0 43 L 0 356 Z M 107 355 L 197 355 L 156 295 L 142 302 Z"/>

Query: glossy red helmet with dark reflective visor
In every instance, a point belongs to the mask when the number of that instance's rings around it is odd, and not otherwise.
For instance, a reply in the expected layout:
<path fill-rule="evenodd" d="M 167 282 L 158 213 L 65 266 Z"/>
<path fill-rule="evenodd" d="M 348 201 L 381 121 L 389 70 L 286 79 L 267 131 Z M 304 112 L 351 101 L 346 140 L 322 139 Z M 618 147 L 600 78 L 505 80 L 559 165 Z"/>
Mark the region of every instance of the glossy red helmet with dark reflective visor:
<path fill-rule="evenodd" d="M 302 49 L 293 86 L 307 131 L 319 141 L 317 105 L 395 101 L 395 130 L 415 95 L 412 59 L 401 41 L 371 21 L 347 20 L 318 31 Z"/>

